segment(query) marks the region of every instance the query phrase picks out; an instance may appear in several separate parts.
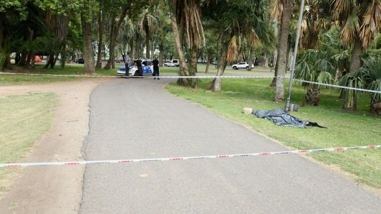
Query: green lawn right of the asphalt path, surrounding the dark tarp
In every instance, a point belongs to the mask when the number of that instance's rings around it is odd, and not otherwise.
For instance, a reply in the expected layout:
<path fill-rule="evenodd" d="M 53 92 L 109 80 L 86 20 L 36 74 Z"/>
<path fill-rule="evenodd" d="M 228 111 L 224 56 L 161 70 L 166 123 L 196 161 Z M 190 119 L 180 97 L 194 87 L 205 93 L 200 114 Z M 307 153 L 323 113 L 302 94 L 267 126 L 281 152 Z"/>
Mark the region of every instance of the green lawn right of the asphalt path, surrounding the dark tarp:
<path fill-rule="evenodd" d="M 284 103 L 273 101 L 274 88 L 268 86 L 271 79 L 224 79 L 221 93 L 205 89 L 208 81 L 204 79 L 198 90 L 190 90 L 175 83 L 168 84 L 166 88 L 170 93 L 197 102 L 213 112 L 245 124 L 292 148 L 312 149 L 381 143 L 381 117 L 368 112 L 368 95 L 363 95 L 358 100 L 358 111 L 349 112 L 341 109 L 342 100 L 337 98 L 339 95 L 337 91 L 323 90 L 319 106 L 304 106 L 292 114 L 304 120 L 318 122 L 328 129 L 295 128 L 277 126 L 269 120 L 242 113 L 243 107 L 273 109 L 284 106 Z M 288 85 L 288 81 L 285 84 Z M 304 101 L 304 96 L 304 88 L 296 85 L 292 91 L 291 101 L 301 103 Z M 361 183 L 381 188 L 381 149 L 308 155 L 352 173 Z"/>

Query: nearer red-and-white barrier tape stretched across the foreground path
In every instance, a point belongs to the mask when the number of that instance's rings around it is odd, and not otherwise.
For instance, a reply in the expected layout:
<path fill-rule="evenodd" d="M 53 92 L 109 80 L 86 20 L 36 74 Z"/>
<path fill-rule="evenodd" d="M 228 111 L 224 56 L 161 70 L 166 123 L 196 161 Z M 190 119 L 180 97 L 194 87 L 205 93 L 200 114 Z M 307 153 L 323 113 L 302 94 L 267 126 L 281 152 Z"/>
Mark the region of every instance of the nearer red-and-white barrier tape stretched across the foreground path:
<path fill-rule="evenodd" d="M 327 152 L 327 151 L 344 151 L 344 150 L 358 150 L 358 149 L 376 149 L 381 145 L 365 145 L 354 147 L 334 147 L 334 148 L 320 148 L 320 149 L 304 149 L 304 150 L 291 150 L 291 151 L 272 151 L 260 153 L 242 153 L 242 154 L 220 154 L 208 156 L 184 156 L 184 157 L 163 157 L 163 158 L 145 158 L 145 159 L 114 159 L 114 160 L 78 160 L 78 161 L 60 161 L 60 162 L 20 162 L 20 163 L 0 163 L 2 167 L 22 167 L 22 166 L 43 166 L 43 165 L 80 165 L 80 164 L 94 164 L 94 163 L 131 163 L 143 161 L 171 161 L 171 160 L 186 160 L 186 159 L 208 159 L 208 158 L 227 158 L 227 157 L 242 157 L 242 156 L 263 156 L 272 154 L 291 154 L 291 153 L 314 153 L 314 152 Z"/>

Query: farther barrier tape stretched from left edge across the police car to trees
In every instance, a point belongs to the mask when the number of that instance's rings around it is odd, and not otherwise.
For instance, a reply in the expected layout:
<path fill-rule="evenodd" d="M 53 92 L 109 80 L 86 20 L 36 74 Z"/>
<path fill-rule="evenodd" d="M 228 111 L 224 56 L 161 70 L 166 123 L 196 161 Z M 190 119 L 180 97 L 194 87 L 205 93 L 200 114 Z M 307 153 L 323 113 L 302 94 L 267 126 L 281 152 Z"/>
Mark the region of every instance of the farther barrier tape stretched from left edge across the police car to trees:
<path fill-rule="evenodd" d="M 274 78 L 275 76 L 207 76 L 207 75 L 200 75 L 200 76 L 152 76 L 152 75 L 145 75 L 145 76 L 111 76 L 111 75 L 74 75 L 74 74 L 46 74 L 46 73 L 10 73 L 10 72 L 0 72 L 0 74 L 19 74 L 19 75 L 41 75 L 41 76 L 71 76 L 71 77 L 129 77 L 129 78 Z"/>

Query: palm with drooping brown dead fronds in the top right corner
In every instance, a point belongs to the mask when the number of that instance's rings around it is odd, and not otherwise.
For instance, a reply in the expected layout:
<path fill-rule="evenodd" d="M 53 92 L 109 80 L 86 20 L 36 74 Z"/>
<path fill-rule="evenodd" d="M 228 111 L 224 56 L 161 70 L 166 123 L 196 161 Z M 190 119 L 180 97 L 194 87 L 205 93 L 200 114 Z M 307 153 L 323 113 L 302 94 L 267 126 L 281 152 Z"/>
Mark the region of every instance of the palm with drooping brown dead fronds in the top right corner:
<path fill-rule="evenodd" d="M 340 37 L 345 44 L 353 46 L 349 66 L 349 72 L 353 73 L 361 66 L 361 54 L 380 30 L 381 0 L 336 0 L 333 3 L 333 17 L 341 27 Z M 356 109 L 354 93 L 351 98 L 348 94 L 346 97 L 343 108 Z"/>

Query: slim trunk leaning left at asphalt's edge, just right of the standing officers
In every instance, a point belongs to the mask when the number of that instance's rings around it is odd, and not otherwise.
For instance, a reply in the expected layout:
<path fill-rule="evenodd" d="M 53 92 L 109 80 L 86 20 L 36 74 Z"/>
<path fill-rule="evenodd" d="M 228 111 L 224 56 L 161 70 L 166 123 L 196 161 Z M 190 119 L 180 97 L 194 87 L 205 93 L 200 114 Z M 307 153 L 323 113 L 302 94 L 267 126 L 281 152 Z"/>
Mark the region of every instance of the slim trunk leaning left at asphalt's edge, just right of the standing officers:
<path fill-rule="evenodd" d="M 173 32 L 173 38 L 174 38 L 174 46 L 177 50 L 177 54 L 178 54 L 178 61 L 179 61 L 179 68 L 180 68 L 180 75 L 181 76 L 188 76 L 189 73 L 188 73 L 188 69 L 186 67 L 186 64 L 185 64 L 185 58 L 184 58 L 184 53 L 182 52 L 182 46 L 181 46 L 181 43 L 180 43 L 180 38 L 179 38 L 179 32 L 178 32 L 178 29 L 177 29 L 177 23 L 176 23 L 176 17 L 174 16 L 173 12 L 171 12 L 172 14 L 170 15 L 170 21 L 171 21 L 171 24 L 172 24 L 172 32 Z M 182 83 L 184 85 L 189 85 L 189 81 L 187 78 L 182 78 Z M 191 80 L 191 79 L 189 79 Z M 192 85 L 189 85 L 192 87 Z"/>

